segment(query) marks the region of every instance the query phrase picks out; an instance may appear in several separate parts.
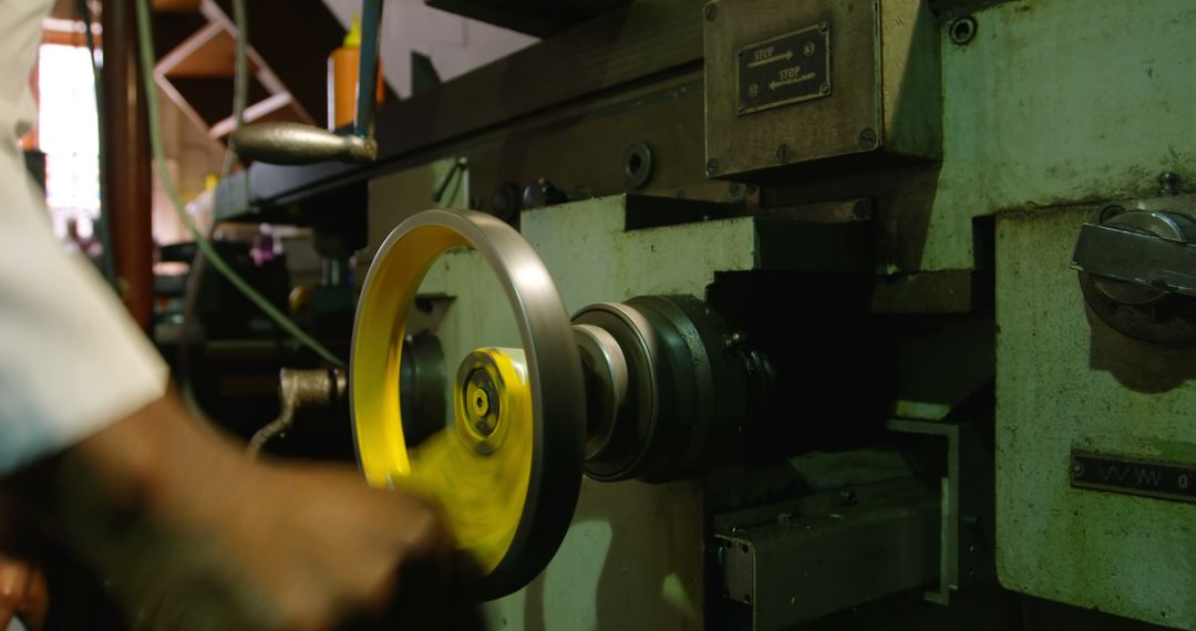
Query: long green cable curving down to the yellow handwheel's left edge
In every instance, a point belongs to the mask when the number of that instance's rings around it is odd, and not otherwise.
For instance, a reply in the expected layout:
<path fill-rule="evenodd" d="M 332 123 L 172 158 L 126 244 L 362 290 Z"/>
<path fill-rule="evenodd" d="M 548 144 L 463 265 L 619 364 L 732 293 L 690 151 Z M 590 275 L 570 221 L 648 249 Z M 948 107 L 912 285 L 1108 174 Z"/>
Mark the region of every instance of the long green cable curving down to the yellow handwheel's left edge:
<path fill-rule="evenodd" d="M 196 227 L 195 221 L 191 216 L 187 214 L 183 209 L 183 198 L 178 195 L 178 189 L 175 186 L 175 180 L 170 176 L 170 171 L 166 170 L 166 155 L 161 146 L 161 129 L 158 122 L 158 99 L 150 96 L 154 94 L 154 80 L 153 80 L 153 68 L 155 60 L 153 56 L 153 35 L 150 32 L 150 0 L 136 0 L 138 10 L 138 43 L 141 53 L 141 76 L 145 82 L 145 92 L 148 98 L 146 98 L 146 110 L 150 114 L 150 149 L 153 153 L 154 165 L 158 167 L 158 178 L 161 180 L 163 189 L 166 190 L 166 195 L 170 197 L 171 204 L 175 207 L 175 213 L 178 214 L 179 221 L 187 227 L 188 232 L 195 239 L 195 244 L 203 251 L 203 255 L 208 257 L 212 262 L 212 267 L 216 269 L 225 278 L 232 283 L 242 294 L 245 295 L 257 308 L 262 310 L 271 320 L 275 321 L 283 331 L 294 337 L 300 344 L 307 347 L 317 355 L 319 355 L 324 361 L 337 366 L 344 367 L 344 362 L 332 355 L 323 344 L 313 339 L 303 329 L 299 327 L 294 321 L 287 318 L 282 312 L 275 308 L 269 300 L 258 294 L 250 284 L 242 278 L 232 267 L 216 252 L 216 249 L 212 246 L 212 243 L 200 232 Z"/>

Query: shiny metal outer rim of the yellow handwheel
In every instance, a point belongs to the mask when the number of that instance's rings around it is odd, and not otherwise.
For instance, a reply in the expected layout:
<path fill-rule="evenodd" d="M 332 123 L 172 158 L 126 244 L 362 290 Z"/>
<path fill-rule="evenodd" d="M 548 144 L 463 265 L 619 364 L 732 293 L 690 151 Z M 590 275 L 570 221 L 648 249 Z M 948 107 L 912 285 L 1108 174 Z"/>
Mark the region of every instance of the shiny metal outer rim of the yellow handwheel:
<path fill-rule="evenodd" d="M 397 246 L 402 246 L 402 256 L 411 257 L 415 264 L 403 265 L 395 272 L 393 268 L 379 262 Z M 386 326 L 392 336 L 391 344 L 401 348 L 405 313 L 420 281 L 440 253 L 462 246 L 486 258 L 507 294 L 519 324 L 532 396 L 532 464 L 523 513 L 506 555 L 480 586 L 482 598 L 494 599 L 524 587 L 548 565 L 573 519 L 581 483 L 585 391 L 580 357 L 565 305 L 543 262 L 511 226 L 482 213 L 427 210 L 399 223 L 379 247 L 362 284 L 353 327 L 349 397 L 362 472 L 372 485 L 384 486 L 388 480 L 377 474 L 377 462 L 367 461 L 362 453 L 362 441 L 370 439 L 362 435 L 364 421 L 359 416 L 380 410 L 389 413 L 385 410 L 390 410 L 391 404 L 380 399 L 359 400 L 358 392 L 365 379 L 392 381 L 397 413 L 401 353 L 395 351 L 391 357 L 383 349 L 364 348 L 359 333 L 365 318 L 373 317 L 379 305 L 397 301 L 401 305 L 397 317 Z M 396 280 L 403 282 L 395 283 Z M 395 313 L 395 310 L 382 310 L 386 311 Z M 382 325 L 370 323 L 368 326 L 374 330 Z M 399 448 L 405 453 L 405 446 Z"/>

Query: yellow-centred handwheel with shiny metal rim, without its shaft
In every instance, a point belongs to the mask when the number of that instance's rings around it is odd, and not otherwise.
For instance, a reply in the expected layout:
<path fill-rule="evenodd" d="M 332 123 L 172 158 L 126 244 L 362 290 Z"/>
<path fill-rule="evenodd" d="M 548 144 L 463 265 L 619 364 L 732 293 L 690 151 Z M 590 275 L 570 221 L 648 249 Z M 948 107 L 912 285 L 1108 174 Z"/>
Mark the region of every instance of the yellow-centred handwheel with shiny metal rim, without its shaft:
<path fill-rule="evenodd" d="M 454 247 L 487 259 L 515 313 L 523 349 L 484 348 L 465 357 L 452 424 L 411 448 L 399 415 L 403 329 L 428 268 Z M 361 468 L 374 486 L 416 488 L 441 502 L 458 544 L 484 574 L 484 598 L 535 578 L 573 517 L 585 443 L 580 366 L 548 270 L 506 223 L 428 210 L 383 243 L 353 327 L 349 387 Z"/>

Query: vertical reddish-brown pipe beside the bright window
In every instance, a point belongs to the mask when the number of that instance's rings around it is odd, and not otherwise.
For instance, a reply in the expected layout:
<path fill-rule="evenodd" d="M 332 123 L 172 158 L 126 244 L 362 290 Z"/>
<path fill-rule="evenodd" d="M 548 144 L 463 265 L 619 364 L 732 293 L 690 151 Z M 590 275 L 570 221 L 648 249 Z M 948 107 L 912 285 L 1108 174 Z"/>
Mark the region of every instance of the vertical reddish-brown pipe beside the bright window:
<path fill-rule="evenodd" d="M 102 121 L 109 165 L 104 186 L 110 202 L 111 239 L 121 295 L 129 313 L 148 330 L 153 316 L 153 232 L 150 133 L 146 93 L 140 82 L 136 22 L 130 0 L 104 2 Z"/>

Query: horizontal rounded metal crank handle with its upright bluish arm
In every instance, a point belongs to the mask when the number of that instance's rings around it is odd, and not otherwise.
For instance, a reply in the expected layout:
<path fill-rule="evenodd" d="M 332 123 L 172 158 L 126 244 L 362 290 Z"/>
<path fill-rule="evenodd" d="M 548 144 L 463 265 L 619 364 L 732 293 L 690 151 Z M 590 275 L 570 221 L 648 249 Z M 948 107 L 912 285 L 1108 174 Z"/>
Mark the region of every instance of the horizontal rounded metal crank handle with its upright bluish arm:
<path fill-rule="evenodd" d="M 378 155 L 373 140 L 374 90 L 378 85 L 378 53 L 382 44 L 383 0 L 361 2 L 361 53 L 358 68 L 358 110 L 353 135 L 342 136 L 303 123 L 254 123 L 228 137 L 243 158 L 279 165 L 303 165 L 340 160 L 372 163 Z"/>

